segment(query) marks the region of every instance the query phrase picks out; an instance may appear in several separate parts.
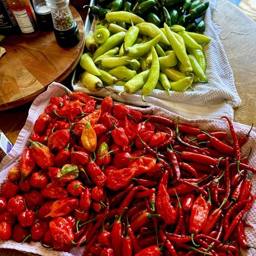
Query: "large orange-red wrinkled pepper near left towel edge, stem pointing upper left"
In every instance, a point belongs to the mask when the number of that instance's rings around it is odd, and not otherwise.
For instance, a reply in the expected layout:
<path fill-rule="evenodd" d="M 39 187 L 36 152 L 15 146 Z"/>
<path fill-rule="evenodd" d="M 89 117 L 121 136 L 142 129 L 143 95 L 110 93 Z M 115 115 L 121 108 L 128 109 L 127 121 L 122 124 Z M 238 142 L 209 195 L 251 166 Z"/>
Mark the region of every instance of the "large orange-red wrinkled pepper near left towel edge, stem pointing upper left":
<path fill-rule="evenodd" d="M 50 153 L 49 147 L 39 143 L 30 141 L 31 143 L 31 153 L 36 161 L 36 164 L 42 169 L 47 167 L 52 167 L 54 165 L 54 155 Z"/>

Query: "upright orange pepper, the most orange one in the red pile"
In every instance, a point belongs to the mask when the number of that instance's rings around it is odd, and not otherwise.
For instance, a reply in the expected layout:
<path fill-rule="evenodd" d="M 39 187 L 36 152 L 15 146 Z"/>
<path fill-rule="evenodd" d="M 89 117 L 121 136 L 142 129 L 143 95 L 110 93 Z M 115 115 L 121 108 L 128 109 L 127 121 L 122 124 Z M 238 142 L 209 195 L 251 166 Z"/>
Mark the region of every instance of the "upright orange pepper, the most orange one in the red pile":
<path fill-rule="evenodd" d="M 89 152 L 93 152 L 97 146 L 97 136 L 90 121 L 85 124 L 84 130 L 81 135 L 83 148 Z"/>

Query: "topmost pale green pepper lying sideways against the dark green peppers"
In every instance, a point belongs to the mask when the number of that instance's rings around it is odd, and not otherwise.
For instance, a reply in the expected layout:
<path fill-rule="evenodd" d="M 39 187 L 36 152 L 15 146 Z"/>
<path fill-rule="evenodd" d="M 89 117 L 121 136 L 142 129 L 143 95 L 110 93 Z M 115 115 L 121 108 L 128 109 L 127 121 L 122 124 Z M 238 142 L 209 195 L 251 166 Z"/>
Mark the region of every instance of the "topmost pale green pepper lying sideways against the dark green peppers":
<path fill-rule="evenodd" d="M 106 20 L 108 23 L 124 21 L 125 23 L 131 24 L 131 21 L 132 21 L 133 24 L 138 24 L 141 22 L 145 22 L 145 20 L 140 18 L 138 15 L 130 12 L 125 12 L 125 11 L 108 12 L 106 14 Z"/>

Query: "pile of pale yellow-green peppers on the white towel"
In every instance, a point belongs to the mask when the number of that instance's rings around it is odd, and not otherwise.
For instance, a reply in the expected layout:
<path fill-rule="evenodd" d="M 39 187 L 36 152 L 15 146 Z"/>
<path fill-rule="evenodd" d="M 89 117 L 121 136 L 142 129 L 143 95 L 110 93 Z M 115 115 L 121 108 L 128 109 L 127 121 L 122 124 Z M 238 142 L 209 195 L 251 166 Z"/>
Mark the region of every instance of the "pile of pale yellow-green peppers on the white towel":
<path fill-rule="evenodd" d="M 143 101 L 154 89 L 193 90 L 193 83 L 207 83 L 203 47 L 210 41 L 180 25 L 159 28 L 131 12 L 109 12 L 85 38 L 81 81 L 92 92 L 113 85 L 123 86 L 120 95 L 141 89 Z"/>

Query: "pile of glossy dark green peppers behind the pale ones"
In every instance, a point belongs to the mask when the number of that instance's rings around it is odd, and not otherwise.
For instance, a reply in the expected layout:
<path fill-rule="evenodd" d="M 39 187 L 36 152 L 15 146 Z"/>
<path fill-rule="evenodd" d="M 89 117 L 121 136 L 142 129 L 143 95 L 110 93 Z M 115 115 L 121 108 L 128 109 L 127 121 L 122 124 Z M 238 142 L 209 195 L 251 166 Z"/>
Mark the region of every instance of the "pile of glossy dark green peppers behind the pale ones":
<path fill-rule="evenodd" d="M 181 25 L 186 31 L 203 33 L 205 29 L 204 13 L 209 7 L 209 1 L 201 0 L 97 0 L 90 6 L 91 13 L 104 19 L 106 13 L 126 11 L 158 27 Z"/>

